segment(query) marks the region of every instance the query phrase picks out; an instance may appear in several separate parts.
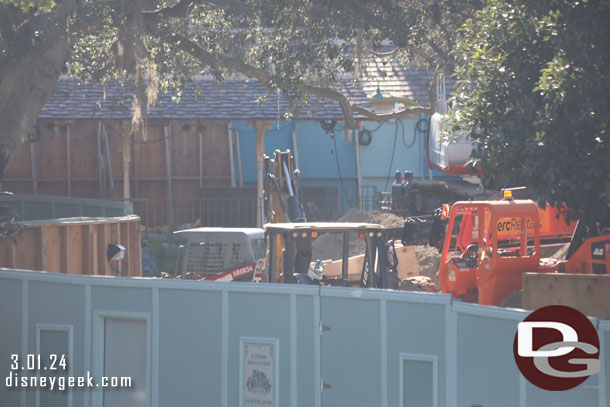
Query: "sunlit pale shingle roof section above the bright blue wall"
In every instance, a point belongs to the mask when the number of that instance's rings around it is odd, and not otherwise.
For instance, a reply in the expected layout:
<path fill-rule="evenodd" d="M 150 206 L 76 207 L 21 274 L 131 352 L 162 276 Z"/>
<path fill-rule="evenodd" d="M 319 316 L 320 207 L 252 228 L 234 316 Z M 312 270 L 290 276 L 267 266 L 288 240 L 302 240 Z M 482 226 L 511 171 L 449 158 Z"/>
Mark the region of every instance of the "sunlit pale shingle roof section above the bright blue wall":
<path fill-rule="evenodd" d="M 394 57 L 371 56 L 363 69 L 362 89 L 368 97 L 373 97 L 379 84 L 383 96 L 408 98 L 429 107 L 428 88 L 432 75 L 433 71 L 404 65 Z M 449 97 L 455 91 L 455 80 L 446 78 L 445 83 Z"/>

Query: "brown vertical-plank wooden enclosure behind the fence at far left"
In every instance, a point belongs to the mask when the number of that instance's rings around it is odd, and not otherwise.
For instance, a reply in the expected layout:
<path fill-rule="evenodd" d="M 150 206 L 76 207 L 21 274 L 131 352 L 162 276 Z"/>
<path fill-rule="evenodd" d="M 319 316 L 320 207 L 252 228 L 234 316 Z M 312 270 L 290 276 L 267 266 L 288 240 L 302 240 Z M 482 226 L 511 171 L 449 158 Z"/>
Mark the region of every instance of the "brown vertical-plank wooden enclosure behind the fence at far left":
<path fill-rule="evenodd" d="M 125 258 L 106 260 L 109 243 L 125 247 Z M 140 218 L 66 218 L 27 222 L 17 239 L 0 245 L 0 267 L 54 273 L 142 276 Z"/>

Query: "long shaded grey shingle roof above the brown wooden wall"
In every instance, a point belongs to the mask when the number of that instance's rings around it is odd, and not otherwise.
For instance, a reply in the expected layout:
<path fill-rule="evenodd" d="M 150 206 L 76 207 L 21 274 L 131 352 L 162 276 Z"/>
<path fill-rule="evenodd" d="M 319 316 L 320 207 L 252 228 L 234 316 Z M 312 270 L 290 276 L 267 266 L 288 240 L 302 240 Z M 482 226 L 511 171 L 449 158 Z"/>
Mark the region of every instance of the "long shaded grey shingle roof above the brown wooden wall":
<path fill-rule="evenodd" d="M 352 103 L 371 108 L 360 84 L 343 80 L 344 94 Z M 76 79 L 60 79 L 39 118 L 52 119 L 128 119 L 131 118 L 133 88 L 110 83 L 80 85 Z M 256 80 L 196 80 L 182 90 L 180 103 L 175 94 L 159 92 L 157 104 L 146 114 L 152 119 L 272 119 L 278 118 L 278 95 Z M 258 99 L 267 97 L 263 103 Z M 290 111 L 287 98 L 280 95 L 279 115 Z M 359 117 L 359 116 L 355 116 Z M 297 110 L 295 118 L 311 120 L 342 119 L 338 103 L 310 97 Z"/>

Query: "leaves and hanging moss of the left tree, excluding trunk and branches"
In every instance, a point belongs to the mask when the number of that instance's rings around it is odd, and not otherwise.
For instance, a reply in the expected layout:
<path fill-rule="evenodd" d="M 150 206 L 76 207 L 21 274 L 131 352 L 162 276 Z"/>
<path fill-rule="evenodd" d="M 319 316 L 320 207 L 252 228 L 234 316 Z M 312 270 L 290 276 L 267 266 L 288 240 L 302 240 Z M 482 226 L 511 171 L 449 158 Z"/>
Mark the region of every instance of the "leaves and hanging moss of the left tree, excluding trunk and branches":
<path fill-rule="evenodd" d="M 235 70 L 202 61 L 200 50 L 265 72 L 271 91 L 281 88 L 296 102 L 305 97 L 304 83 L 333 88 L 339 77 L 355 73 L 363 49 L 384 40 L 405 62 L 451 65 L 457 28 L 481 1 L 83 0 L 69 10 L 67 24 L 65 18 L 44 24 L 36 7 L 50 10 L 51 0 L 0 0 L 0 68 L 3 57 L 18 60 L 50 27 L 65 26 L 70 71 L 87 82 L 135 82 L 141 106 L 154 103 L 147 99 L 156 88 L 176 90 L 199 74 L 223 81 Z M 170 10 L 184 4 L 183 12 Z M 151 18 L 164 8 L 170 12 Z M 20 29 L 29 23 L 31 30 Z M 185 49 L 178 36 L 199 49 Z"/>

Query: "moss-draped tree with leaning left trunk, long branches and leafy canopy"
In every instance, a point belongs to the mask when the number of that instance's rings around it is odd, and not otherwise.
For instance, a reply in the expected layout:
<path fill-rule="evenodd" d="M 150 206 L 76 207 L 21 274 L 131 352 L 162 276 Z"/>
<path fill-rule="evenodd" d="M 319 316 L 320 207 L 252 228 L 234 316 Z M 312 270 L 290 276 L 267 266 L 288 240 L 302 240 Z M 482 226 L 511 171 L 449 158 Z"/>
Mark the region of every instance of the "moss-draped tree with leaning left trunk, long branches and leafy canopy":
<path fill-rule="evenodd" d="M 256 78 L 298 99 L 338 101 L 346 124 L 378 116 L 335 84 L 383 41 L 409 62 L 452 64 L 457 28 L 479 0 L 0 0 L 0 173 L 61 72 L 137 82 L 136 116 L 195 74 Z M 139 110 L 138 110 L 139 109 Z M 140 114 L 138 111 L 141 111 Z"/>

